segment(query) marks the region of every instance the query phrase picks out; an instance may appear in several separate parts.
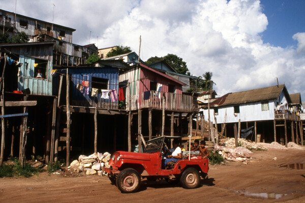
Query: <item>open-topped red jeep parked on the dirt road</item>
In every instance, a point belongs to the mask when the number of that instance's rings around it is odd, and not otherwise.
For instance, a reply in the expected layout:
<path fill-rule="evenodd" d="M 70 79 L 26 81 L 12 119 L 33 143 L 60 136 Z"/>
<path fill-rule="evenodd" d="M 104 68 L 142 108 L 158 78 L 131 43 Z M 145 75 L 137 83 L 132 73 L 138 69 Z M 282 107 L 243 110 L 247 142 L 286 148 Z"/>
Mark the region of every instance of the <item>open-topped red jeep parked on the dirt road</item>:
<path fill-rule="evenodd" d="M 196 188 L 200 184 L 200 177 L 205 179 L 208 172 L 208 159 L 191 155 L 182 157 L 171 168 L 162 167 L 163 144 L 165 141 L 181 138 L 177 136 L 161 136 L 151 139 L 143 153 L 118 151 L 109 161 L 110 168 L 103 167 L 108 173 L 111 183 L 121 192 L 135 192 L 140 186 L 141 179 L 179 180 L 184 188 Z"/>

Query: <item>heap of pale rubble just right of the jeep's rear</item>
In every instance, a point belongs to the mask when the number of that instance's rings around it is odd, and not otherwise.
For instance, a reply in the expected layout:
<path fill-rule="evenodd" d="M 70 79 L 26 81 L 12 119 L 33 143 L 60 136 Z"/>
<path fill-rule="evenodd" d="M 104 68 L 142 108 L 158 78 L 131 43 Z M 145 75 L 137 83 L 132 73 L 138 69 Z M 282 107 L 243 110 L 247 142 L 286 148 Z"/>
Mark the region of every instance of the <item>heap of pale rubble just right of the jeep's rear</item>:
<path fill-rule="evenodd" d="M 234 148 L 234 147 L 219 146 L 218 144 L 215 144 L 214 149 L 218 151 L 219 155 L 221 155 L 224 159 L 227 160 L 248 164 L 247 160 L 251 159 L 252 152 L 244 147 Z"/>

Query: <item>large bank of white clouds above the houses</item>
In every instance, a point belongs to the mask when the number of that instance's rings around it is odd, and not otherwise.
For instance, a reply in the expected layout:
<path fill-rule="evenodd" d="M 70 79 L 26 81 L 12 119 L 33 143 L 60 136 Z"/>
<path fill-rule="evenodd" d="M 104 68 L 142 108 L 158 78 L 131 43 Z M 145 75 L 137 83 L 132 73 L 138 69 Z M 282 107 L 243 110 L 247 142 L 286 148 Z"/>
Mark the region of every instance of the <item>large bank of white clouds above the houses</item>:
<path fill-rule="evenodd" d="M 3 3 L 14 11 L 15 1 Z M 142 60 L 174 53 L 194 75 L 211 71 L 219 95 L 275 85 L 276 77 L 289 93 L 305 94 L 305 33 L 293 35 L 297 47 L 264 44 L 268 20 L 259 0 L 36 0 L 18 1 L 17 13 L 51 21 L 52 3 L 54 23 L 76 28 L 76 44 L 87 44 L 92 31 L 90 43 L 100 48 L 120 44 L 138 52 L 141 35 Z"/>

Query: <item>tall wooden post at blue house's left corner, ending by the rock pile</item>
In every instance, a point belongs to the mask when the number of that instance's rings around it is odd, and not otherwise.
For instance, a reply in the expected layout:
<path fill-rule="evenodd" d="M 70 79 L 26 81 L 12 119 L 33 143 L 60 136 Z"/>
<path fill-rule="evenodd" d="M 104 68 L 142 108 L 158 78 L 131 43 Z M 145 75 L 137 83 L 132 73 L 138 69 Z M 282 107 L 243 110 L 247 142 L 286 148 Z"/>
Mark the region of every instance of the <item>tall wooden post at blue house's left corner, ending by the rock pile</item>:
<path fill-rule="evenodd" d="M 67 69 L 67 139 L 66 139 L 66 147 L 67 147 L 67 157 L 66 157 L 66 166 L 70 165 L 70 75 L 68 74 Z"/>

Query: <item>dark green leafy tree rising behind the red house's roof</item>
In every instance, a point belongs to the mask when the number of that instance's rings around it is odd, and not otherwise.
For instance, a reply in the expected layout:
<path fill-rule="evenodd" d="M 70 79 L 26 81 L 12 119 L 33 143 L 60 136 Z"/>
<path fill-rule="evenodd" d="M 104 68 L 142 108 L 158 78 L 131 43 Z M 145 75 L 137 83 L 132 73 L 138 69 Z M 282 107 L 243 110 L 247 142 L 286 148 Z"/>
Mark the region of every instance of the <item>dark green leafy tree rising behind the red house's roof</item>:
<path fill-rule="evenodd" d="M 168 53 L 166 56 L 162 57 L 150 57 L 145 63 L 149 65 L 162 59 L 164 59 L 171 67 L 173 67 L 177 71 L 177 73 L 186 74 L 189 71 L 187 63 L 184 62 L 182 58 L 180 58 L 176 54 L 171 53 Z"/>

